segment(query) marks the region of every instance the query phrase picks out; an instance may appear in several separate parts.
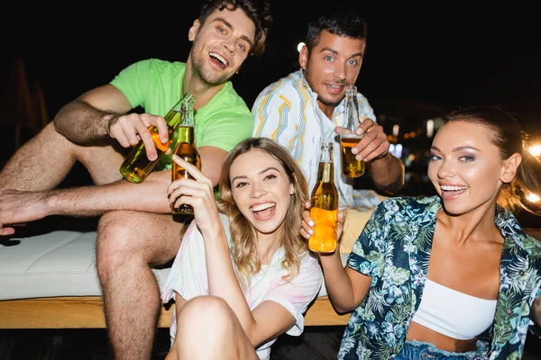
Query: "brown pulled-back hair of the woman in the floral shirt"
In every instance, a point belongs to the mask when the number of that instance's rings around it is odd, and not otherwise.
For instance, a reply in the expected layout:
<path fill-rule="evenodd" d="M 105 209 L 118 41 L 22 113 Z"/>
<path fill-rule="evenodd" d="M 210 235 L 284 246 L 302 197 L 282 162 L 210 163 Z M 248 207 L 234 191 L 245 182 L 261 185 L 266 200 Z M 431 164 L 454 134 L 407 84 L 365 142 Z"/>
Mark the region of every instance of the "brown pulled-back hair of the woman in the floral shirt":
<path fill-rule="evenodd" d="M 518 153 L 522 162 L 517 175 L 509 184 L 501 187 L 498 204 L 509 211 L 518 208 L 532 212 L 522 202 L 524 194 L 541 193 L 541 163 L 527 150 L 527 133 L 515 117 L 498 106 L 475 106 L 456 110 L 446 116 L 447 121 L 477 123 L 491 130 L 491 141 L 500 149 L 501 159 Z"/>

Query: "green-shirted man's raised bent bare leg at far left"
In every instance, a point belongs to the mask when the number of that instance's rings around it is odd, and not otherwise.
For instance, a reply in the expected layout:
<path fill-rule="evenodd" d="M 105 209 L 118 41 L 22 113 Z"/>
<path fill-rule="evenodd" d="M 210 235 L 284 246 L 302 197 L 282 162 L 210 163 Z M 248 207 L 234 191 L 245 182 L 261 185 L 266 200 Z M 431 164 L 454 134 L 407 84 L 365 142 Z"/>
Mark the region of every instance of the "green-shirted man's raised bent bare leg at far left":
<path fill-rule="evenodd" d="M 121 178 L 118 168 L 124 157 L 111 144 L 79 146 L 60 135 L 51 121 L 5 164 L 0 172 L 0 191 L 53 189 L 77 160 L 87 167 L 96 184 L 112 183 Z"/>

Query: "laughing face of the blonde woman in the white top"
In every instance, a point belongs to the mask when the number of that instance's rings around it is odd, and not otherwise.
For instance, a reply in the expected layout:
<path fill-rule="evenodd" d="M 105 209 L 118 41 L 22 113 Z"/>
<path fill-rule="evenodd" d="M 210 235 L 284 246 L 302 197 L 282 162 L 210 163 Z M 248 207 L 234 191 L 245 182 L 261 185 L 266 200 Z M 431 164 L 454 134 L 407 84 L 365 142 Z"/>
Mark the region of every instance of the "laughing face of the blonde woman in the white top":
<path fill-rule="evenodd" d="M 252 149 L 234 159 L 229 172 L 234 202 L 258 237 L 280 235 L 294 184 L 280 162 Z"/>

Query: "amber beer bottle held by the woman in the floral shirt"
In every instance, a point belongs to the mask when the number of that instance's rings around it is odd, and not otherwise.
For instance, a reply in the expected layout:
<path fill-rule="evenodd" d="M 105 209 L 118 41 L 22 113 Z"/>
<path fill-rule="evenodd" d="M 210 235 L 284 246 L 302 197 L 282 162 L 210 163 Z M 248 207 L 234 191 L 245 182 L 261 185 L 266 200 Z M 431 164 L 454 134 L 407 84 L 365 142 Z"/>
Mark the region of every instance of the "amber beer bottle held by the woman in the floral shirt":
<path fill-rule="evenodd" d="M 338 192 L 335 186 L 333 143 L 321 146 L 317 182 L 312 189 L 310 218 L 314 220 L 314 234 L 308 238 L 308 247 L 318 253 L 332 253 L 336 249 L 336 217 Z"/>

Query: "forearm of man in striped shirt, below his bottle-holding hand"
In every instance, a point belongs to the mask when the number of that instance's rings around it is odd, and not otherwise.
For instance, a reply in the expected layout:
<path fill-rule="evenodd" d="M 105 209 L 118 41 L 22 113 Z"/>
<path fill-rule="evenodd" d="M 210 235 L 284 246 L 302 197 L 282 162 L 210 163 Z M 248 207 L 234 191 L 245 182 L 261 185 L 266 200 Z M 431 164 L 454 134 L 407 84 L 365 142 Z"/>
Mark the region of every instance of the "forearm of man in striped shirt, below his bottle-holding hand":
<path fill-rule="evenodd" d="M 404 164 L 390 153 L 379 160 L 371 161 L 370 171 L 374 184 L 381 190 L 394 193 L 404 186 Z"/>

